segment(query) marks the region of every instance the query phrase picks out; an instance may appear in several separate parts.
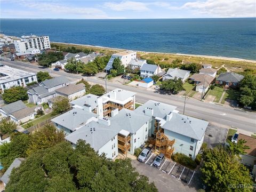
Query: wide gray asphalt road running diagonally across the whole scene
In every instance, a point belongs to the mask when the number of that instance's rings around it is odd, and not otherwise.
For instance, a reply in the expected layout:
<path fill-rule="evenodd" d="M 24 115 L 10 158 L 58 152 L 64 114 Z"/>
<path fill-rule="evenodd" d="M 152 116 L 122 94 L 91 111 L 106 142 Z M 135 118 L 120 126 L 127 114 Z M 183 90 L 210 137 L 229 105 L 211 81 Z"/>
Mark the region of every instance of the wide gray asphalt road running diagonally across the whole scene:
<path fill-rule="evenodd" d="M 82 76 L 79 74 L 69 74 L 65 73 L 64 71 L 53 71 L 52 69 L 50 70 L 50 68 L 42 68 L 20 61 L 10 61 L 9 59 L 4 59 L 4 61 L 1 62 L 7 66 L 34 73 L 37 73 L 38 71 L 48 71 L 53 77 L 66 76 L 70 81 L 75 81 L 82 78 Z M 103 81 L 103 79 L 99 79 L 96 77 L 83 78 L 90 83 L 98 83 L 105 86 L 105 81 Z M 123 85 L 119 82 L 107 82 L 108 91 L 115 88 L 121 88 L 137 92 L 137 102 L 144 103 L 150 99 L 155 101 L 161 101 L 173 106 L 177 106 L 177 110 L 179 110 L 180 113 L 183 113 L 185 98 L 180 97 L 179 95 L 161 94 L 155 90 L 131 87 L 128 85 Z M 193 98 L 187 98 L 185 115 L 205 119 L 206 121 L 218 124 L 219 126 L 236 127 L 244 131 L 249 131 L 253 133 L 256 132 L 256 113 L 239 108 L 221 106 L 214 103 L 198 101 Z"/>

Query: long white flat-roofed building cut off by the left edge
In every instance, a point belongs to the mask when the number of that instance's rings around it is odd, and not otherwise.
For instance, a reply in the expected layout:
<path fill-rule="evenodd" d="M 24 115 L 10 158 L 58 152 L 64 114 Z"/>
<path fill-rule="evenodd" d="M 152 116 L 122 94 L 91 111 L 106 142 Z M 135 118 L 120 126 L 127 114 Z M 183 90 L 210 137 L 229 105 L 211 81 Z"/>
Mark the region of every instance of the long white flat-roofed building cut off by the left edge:
<path fill-rule="evenodd" d="M 26 85 L 31 82 L 37 82 L 35 73 L 9 66 L 0 67 L 0 93 L 13 86 L 26 87 Z"/>

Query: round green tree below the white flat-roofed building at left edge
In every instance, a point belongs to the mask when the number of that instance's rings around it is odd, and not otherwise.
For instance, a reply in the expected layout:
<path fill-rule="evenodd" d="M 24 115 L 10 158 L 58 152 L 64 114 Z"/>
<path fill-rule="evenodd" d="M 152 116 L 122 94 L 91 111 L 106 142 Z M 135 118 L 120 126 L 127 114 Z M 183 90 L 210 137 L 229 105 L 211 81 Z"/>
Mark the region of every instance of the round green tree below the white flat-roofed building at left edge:
<path fill-rule="evenodd" d="M 18 100 L 25 101 L 28 99 L 27 89 L 21 86 L 11 87 L 10 89 L 4 90 L 2 98 L 8 103 L 12 103 Z"/>

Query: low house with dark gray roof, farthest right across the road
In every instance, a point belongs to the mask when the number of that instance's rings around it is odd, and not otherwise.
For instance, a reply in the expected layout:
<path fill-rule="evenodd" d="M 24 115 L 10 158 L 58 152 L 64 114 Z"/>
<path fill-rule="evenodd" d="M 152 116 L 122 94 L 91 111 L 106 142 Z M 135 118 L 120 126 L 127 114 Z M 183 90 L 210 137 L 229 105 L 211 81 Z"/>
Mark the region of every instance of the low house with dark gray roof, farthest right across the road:
<path fill-rule="evenodd" d="M 215 83 L 220 85 L 225 85 L 226 87 L 238 87 L 239 83 L 243 80 L 244 76 L 234 73 L 221 73 L 217 78 Z"/>

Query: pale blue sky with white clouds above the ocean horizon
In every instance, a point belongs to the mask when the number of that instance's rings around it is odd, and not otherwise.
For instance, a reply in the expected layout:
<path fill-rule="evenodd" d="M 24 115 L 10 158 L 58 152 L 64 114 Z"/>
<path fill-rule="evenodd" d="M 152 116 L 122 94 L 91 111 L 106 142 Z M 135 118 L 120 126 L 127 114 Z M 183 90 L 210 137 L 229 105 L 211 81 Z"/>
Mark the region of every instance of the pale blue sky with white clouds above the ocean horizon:
<path fill-rule="evenodd" d="M 0 0 L 1 18 L 162 19 L 256 17 L 255 0 Z"/>

